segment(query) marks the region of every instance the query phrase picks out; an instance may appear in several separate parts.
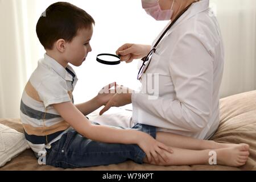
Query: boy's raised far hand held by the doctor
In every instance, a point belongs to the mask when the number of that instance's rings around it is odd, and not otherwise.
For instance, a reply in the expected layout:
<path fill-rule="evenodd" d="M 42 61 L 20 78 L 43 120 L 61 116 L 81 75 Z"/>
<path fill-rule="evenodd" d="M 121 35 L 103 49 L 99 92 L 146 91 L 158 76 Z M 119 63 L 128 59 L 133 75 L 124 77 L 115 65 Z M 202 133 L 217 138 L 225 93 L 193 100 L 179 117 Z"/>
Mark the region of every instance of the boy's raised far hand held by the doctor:
<path fill-rule="evenodd" d="M 103 106 L 106 105 L 109 100 L 114 96 L 115 92 L 115 86 L 116 82 L 113 82 L 109 85 L 104 86 L 100 92 L 98 92 L 98 95 L 96 96 L 98 103 Z M 111 89 L 113 88 L 114 89 Z"/>

